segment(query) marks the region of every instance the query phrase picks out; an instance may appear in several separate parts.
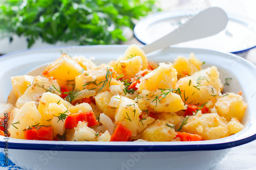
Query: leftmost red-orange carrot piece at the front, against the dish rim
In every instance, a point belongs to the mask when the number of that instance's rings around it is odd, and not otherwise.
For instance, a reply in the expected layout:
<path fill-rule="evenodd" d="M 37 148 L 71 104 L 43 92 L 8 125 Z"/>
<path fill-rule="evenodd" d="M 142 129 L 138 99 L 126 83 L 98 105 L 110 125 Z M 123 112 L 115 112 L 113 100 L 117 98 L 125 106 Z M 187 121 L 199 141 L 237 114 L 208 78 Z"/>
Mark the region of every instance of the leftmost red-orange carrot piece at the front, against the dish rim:
<path fill-rule="evenodd" d="M 25 139 L 29 140 L 53 140 L 53 130 L 52 127 L 32 127 L 24 131 Z"/>

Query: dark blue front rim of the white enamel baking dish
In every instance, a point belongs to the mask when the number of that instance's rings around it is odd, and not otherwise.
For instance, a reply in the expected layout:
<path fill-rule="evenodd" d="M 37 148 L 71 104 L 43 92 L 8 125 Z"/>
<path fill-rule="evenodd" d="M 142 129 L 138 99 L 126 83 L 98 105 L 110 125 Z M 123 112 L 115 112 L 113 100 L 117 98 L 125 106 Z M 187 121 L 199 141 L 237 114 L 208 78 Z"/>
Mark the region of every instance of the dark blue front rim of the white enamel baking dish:
<path fill-rule="evenodd" d="M 6 139 L 6 138 L 4 138 Z M 141 144 L 141 145 L 125 145 L 120 142 L 113 142 L 113 145 L 104 144 L 43 144 L 43 143 L 13 143 L 8 142 L 8 149 L 18 150 L 53 150 L 59 151 L 87 151 L 87 152 L 178 152 L 178 151 L 215 151 L 238 147 L 239 145 L 251 142 L 256 139 L 256 134 L 241 140 L 216 144 L 187 144 L 187 145 L 161 145 Z M 83 142 L 83 141 L 82 141 Z M 192 142 L 192 141 L 190 141 Z M 117 145 L 114 145 L 118 143 Z M 130 142 L 131 143 L 131 142 Z M 146 142 L 151 143 L 151 142 Z M 169 142 L 168 142 L 169 143 Z M 0 142 L 0 148 L 5 148 L 5 142 Z"/>

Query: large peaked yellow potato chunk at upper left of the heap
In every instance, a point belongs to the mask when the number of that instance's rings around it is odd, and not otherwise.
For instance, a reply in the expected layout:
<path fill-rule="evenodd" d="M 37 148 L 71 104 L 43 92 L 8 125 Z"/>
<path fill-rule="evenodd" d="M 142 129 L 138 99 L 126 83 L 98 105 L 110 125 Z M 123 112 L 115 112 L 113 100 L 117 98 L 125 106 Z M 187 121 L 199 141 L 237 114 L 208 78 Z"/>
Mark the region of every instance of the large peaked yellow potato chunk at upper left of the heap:
<path fill-rule="evenodd" d="M 42 75 L 45 77 L 53 77 L 57 80 L 74 80 L 78 75 L 81 74 L 83 67 L 81 67 L 77 61 L 72 59 L 67 54 L 62 56 L 50 64 Z"/>

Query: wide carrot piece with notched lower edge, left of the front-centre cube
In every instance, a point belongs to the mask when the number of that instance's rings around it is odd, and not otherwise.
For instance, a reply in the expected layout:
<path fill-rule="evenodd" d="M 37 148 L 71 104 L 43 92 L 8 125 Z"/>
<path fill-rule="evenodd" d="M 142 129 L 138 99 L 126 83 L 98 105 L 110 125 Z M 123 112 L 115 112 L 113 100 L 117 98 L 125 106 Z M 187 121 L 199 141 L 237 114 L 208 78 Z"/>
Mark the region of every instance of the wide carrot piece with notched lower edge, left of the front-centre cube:
<path fill-rule="evenodd" d="M 74 113 L 67 117 L 65 128 L 66 129 L 73 129 L 77 126 L 78 122 L 87 122 L 88 127 L 98 125 L 98 121 L 93 112 L 80 112 Z"/>

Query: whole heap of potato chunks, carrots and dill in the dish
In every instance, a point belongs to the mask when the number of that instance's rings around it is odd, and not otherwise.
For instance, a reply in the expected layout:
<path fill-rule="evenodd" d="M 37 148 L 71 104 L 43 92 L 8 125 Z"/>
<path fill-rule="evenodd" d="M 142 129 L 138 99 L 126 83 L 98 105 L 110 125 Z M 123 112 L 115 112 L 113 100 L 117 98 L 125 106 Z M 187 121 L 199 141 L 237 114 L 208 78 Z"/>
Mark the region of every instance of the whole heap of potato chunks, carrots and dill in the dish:
<path fill-rule="evenodd" d="M 90 57 L 90 56 L 89 56 Z M 193 53 L 148 61 L 136 45 L 107 64 L 62 54 L 39 76 L 11 77 L 16 106 L 0 104 L 1 135 L 29 140 L 198 141 L 240 132 L 247 104 L 222 93 L 216 66 Z"/>

